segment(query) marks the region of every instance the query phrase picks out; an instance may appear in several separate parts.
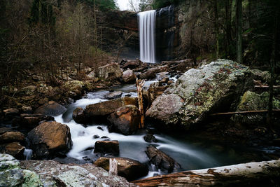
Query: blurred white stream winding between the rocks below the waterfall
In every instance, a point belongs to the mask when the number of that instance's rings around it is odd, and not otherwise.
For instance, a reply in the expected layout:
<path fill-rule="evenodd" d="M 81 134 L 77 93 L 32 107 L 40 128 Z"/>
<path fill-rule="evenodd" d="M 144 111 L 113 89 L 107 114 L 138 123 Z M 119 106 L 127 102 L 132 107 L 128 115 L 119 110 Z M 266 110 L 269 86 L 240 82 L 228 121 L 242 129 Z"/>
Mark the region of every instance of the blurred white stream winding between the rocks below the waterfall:
<path fill-rule="evenodd" d="M 152 83 L 155 83 L 155 81 L 147 81 L 144 88 L 148 88 Z M 113 90 L 123 91 L 122 97 L 127 95 L 130 95 L 130 97 L 137 97 L 135 85 L 123 85 L 120 88 L 114 88 Z M 138 132 L 134 135 L 125 136 L 123 134 L 110 133 L 105 123 L 92 123 L 85 126 L 76 123 L 72 119 L 72 113 L 76 107 L 85 108 L 85 106 L 89 104 L 104 102 L 107 100 L 104 99 L 104 96 L 108 93 L 109 90 L 89 92 L 85 97 L 67 106 L 67 111 L 64 114 L 55 117 L 57 122 L 68 125 L 71 130 L 73 147 L 67 154 L 68 158 L 96 160 L 100 155 L 95 155 L 95 153 L 93 153 L 94 144 L 96 141 L 104 139 L 119 141 L 120 157 L 131 158 L 147 164 L 148 157 L 145 150 L 148 145 L 153 144 L 156 148 L 174 158 L 176 162 L 179 162 L 182 171 L 232 165 L 240 162 L 251 162 L 255 159 L 255 156 L 276 150 L 274 147 L 248 148 L 241 145 L 227 146 L 221 144 L 221 142 L 212 142 L 208 139 L 203 139 L 202 137 L 195 137 L 195 134 L 188 134 L 188 136 L 184 134 L 172 135 L 163 134 L 162 132 L 157 131 L 155 131 L 156 133 L 154 136 L 158 139 L 158 142 L 148 143 L 144 141 L 145 132 Z M 99 138 L 94 139 L 94 135 L 98 135 Z M 249 156 L 246 156 L 248 153 Z M 262 157 L 261 159 L 269 160 L 269 158 L 265 157 Z M 148 176 L 165 174 L 160 171 L 160 169 L 156 169 L 154 165 L 148 165 Z M 145 176 L 144 178 L 148 176 Z"/>

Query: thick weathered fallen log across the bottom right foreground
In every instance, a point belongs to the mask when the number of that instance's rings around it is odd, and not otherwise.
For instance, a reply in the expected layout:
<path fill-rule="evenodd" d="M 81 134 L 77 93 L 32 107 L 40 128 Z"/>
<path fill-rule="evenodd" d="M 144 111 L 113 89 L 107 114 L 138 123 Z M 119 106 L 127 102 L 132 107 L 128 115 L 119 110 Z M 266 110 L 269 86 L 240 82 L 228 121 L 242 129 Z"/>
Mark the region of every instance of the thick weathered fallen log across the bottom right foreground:
<path fill-rule="evenodd" d="M 176 172 L 132 183 L 138 186 L 279 186 L 280 160 Z"/>

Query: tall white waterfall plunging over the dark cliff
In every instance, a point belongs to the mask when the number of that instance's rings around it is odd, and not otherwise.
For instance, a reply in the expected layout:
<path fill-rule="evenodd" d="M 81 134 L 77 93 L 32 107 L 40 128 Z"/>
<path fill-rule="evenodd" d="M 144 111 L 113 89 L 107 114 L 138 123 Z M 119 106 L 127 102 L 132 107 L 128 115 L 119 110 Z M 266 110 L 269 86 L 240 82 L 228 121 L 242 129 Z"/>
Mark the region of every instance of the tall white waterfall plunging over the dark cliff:
<path fill-rule="evenodd" d="M 155 18 L 156 11 L 139 13 L 140 60 L 155 63 Z"/>

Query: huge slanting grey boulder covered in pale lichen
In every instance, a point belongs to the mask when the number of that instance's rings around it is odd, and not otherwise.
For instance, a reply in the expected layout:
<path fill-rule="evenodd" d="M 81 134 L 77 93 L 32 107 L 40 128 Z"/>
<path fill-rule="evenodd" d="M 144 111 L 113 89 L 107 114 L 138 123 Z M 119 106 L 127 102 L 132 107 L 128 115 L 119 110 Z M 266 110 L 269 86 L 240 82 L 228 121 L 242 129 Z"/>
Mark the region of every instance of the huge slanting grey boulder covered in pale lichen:
<path fill-rule="evenodd" d="M 248 67 L 217 60 L 186 71 L 155 99 L 146 116 L 162 122 L 163 127 L 180 124 L 188 130 L 221 106 L 225 110 L 225 106 L 230 106 L 250 88 L 253 88 L 253 78 Z"/>

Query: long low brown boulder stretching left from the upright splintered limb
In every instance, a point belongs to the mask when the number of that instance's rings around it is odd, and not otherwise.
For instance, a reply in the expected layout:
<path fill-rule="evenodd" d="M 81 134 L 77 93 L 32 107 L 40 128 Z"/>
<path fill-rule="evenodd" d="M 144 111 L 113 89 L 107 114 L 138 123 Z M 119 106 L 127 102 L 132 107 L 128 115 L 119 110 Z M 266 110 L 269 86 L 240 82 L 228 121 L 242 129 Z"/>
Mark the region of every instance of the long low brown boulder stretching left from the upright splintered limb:
<path fill-rule="evenodd" d="M 133 104 L 137 106 L 137 98 L 134 97 L 122 97 L 119 99 L 113 99 L 106 102 L 99 102 L 97 104 L 90 104 L 85 107 L 82 111 L 79 109 L 79 115 L 81 116 L 77 123 L 90 123 L 92 120 L 100 120 L 100 117 L 108 116 L 110 113 L 113 113 L 121 106 L 128 104 Z M 83 118 L 83 119 L 82 119 Z M 74 118 L 75 120 L 75 118 Z"/>

